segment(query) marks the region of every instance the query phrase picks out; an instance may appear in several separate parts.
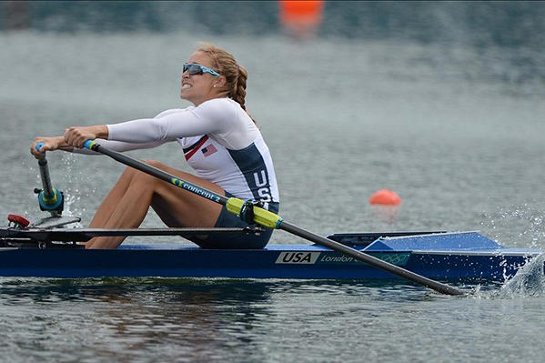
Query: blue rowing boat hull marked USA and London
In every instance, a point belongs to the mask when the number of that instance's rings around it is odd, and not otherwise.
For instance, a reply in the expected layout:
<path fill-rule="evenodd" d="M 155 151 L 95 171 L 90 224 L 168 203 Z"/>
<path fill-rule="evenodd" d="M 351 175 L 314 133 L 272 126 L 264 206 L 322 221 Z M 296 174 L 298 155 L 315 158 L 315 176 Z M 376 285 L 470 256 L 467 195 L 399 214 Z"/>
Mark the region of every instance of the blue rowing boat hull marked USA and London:
<path fill-rule="evenodd" d="M 476 233 L 452 236 L 379 238 L 368 246 L 354 247 L 419 275 L 445 280 L 503 281 L 540 253 L 539 250 L 502 247 Z M 179 244 L 126 245 L 115 250 L 2 248 L 0 276 L 398 278 L 319 246 L 271 245 L 260 250 L 215 250 L 180 247 Z"/>

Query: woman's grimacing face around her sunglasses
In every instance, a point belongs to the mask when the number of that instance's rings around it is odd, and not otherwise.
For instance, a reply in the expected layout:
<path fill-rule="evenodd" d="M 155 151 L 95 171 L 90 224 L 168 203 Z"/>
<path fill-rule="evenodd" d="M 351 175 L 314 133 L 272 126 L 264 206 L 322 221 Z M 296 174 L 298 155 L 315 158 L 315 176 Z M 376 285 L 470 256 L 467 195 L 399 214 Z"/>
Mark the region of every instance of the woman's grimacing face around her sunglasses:
<path fill-rule="evenodd" d="M 214 69 L 211 59 L 204 52 L 197 51 L 193 53 L 189 56 L 189 59 L 187 59 L 187 63 L 197 63 L 198 65 Z M 183 72 L 180 97 L 193 103 L 195 106 L 215 98 L 218 95 L 218 87 L 221 86 L 219 85 L 221 83 L 219 78 L 220 76 L 213 76 L 209 73 L 189 75 L 189 72 Z"/>

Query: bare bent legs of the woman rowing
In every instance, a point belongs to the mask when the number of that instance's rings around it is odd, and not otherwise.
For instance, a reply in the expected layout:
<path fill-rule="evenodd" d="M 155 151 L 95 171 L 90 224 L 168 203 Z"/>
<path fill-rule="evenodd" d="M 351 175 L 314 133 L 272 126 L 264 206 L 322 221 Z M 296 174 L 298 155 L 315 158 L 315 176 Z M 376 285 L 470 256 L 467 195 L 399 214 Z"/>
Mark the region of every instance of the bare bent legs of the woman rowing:
<path fill-rule="evenodd" d="M 158 162 L 147 164 L 217 194 L 225 194 L 221 187 L 197 176 Z M 217 203 L 139 171 L 135 171 L 132 177 L 122 176 L 106 197 L 103 205 L 105 204 L 106 207 L 99 207 L 96 214 L 103 212 L 109 214 L 109 217 L 96 216 L 92 222 L 96 223 L 93 227 L 138 227 L 150 206 L 169 227 L 214 227 L 221 211 L 221 206 Z M 104 224 L 99 223 L 103 221 Z M 116 248 L 124 239 L 125 237 L 95 237 L 86 243 L 86 248 Z"/>

